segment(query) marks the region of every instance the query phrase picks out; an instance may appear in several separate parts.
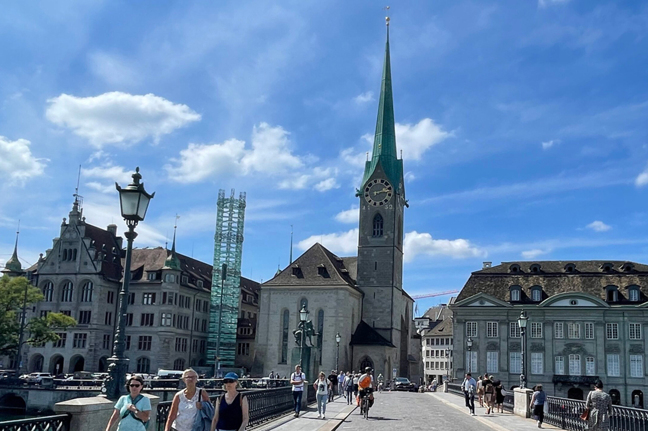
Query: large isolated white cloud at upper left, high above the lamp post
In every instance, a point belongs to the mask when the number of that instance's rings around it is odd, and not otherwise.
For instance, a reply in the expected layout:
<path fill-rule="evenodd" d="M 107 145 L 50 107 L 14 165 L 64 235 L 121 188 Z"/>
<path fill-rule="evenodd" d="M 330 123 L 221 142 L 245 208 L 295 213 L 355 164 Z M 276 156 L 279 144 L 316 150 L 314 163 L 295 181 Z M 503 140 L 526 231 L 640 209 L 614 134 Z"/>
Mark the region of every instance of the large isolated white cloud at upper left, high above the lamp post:
<path fill-rule="evenodd" d="M 75 135 L 87 138 L 97 148 L 139 142 L 147 137 L 157 142 L 162 135 L 201 118 L 189 106 L 174 104 L 154 94 L 141 96 L 121 91 L 91 97 L 61 94 L 47 102 L 48 120 L 72 129 Z"/>

